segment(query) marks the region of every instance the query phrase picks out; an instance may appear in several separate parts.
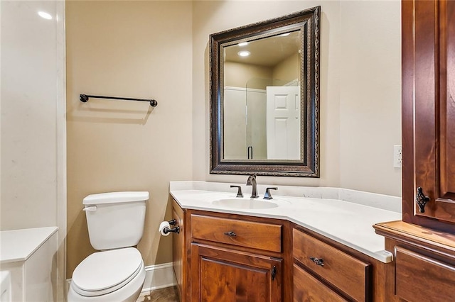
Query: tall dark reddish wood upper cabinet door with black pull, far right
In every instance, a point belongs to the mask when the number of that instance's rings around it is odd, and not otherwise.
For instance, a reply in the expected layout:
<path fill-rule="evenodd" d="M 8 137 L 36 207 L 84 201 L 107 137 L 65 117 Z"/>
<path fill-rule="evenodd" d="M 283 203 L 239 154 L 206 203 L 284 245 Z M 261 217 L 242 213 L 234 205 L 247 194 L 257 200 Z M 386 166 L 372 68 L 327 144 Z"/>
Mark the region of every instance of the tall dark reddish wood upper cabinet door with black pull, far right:
<path fill-rule="evenodd" d="M 403 220 L 452 232 L 454 94 L 455 1 L 402 1 Z"/>

